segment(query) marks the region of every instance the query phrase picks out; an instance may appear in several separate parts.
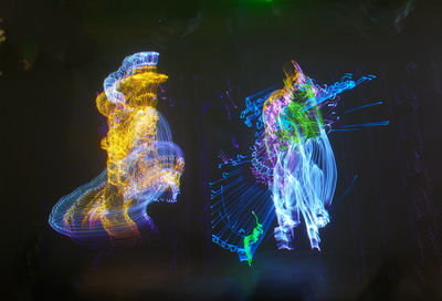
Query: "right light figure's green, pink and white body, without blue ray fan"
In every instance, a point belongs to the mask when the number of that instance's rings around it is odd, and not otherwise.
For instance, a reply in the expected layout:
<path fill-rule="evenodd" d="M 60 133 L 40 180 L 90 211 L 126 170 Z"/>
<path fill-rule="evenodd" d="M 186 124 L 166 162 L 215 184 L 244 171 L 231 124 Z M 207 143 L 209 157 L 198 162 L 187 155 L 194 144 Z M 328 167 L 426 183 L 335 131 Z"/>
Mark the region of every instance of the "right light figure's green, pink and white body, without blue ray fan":
<path fill-rule="evenodd" d="M 346 77 L 320 89 L 295 62 L 285 73 L 284 89 L 273 92 L 263 104 L 264 131 L 255 149 L 263 154 L 261 165 L 272 172 L 267 185 L 278 222 L 274 229 L 278 248 L 292 249 L 293 228 L 303 218 L 312 248 L 319 249 L 318 229 L 329 221 L 325 206 L 332 203 L 337 178 L 319 106 L 352 89 L 355 82 Z"/>

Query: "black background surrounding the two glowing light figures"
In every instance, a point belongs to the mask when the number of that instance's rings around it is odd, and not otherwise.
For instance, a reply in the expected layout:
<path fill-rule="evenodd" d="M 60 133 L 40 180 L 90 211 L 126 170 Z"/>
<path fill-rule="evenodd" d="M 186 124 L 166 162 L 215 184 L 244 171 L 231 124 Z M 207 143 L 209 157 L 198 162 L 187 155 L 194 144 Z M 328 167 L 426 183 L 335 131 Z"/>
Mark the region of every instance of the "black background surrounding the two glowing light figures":
<path fill-rule="evenodd" d="M 441 1 L 417 0 L 1 1 L 2 299 L 442 300 L 441 17 Z M 186 156 L 181 195 L 148 208 L 149 245 L 77 246 L 49 214 L 105 167 L 95 96 L 148 50 L 169 76 L 158 110 Z M 382 101 L 346 124 L 391 124 L 330 134 L 335 199 L 358 179 L 322 252 L 299 229 L 294 251 L 270 238 L 250 268 L 211 243 L 207 183 L 231 137 L 250 142 L 244 97 L 281 85 L 290 59 L 323 83 L 377 75 L 341 110 Z"/>

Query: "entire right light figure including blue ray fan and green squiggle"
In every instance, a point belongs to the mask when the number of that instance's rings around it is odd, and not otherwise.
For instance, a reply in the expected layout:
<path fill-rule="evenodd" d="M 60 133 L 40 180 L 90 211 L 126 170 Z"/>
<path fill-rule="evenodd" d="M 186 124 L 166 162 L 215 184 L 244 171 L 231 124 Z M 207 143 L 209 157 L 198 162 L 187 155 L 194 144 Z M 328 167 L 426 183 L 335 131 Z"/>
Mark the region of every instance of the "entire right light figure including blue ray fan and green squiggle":
<path fill-rule="evenodd" d="M 210 183 L 212 240 L 249 263 L 275 217 L 274 237 L 280 249 L 293 248 L 294 228 L 304 220 L 312 249 L 319 250 L 319 228 L 329 222 L 327 207 L 337 181 L 327 136 L 339 120 L 334 107 L 338 94 L 376 77 L 354 81 L 347 73 L 327 86 L 306 76 L 295 61 L 286 64 L 284 72 L 283 89 L 267 89 L 245 98 L 241 118 L 254 129 L 255 137 L 250 156 L 238 155 L 235 159 L 221 154 L 218 167 L 222 178 Z M 248 169 L 252 179 L 245 175 Z"/>

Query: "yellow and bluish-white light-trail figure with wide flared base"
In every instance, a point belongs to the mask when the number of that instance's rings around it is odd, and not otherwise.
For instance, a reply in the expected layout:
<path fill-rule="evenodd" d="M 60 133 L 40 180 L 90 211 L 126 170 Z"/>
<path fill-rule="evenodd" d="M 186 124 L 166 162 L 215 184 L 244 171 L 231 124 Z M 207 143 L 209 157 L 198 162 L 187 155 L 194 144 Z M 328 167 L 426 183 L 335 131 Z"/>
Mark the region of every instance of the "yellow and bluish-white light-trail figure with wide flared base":
<path fill-rule="evenodd" d="M 156 72 L 158 55 L 140 52 L 126 58 L 96 98 L 108 123 L 102 141 L 107 168 L 63 197 L 49 220 L 80 243 L 145 237 L 155 229 L 147 206 L 177 200 L 185 159 L 167 121 L 155 108 L 158 85 L 167 80 Z"/>

